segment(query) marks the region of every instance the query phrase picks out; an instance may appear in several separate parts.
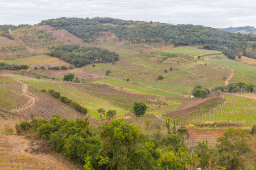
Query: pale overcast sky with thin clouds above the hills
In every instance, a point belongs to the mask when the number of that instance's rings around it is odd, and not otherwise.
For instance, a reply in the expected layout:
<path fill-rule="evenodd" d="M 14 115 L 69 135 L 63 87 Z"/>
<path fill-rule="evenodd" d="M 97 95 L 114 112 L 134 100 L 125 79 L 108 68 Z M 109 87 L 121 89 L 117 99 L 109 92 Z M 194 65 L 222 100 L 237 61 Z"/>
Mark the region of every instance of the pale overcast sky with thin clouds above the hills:
<path fill-rule="evenodd" d="M 0 25 L 65 17 L 110 17 L 214 28 L 256 27 L 255 0 L 0 0 Z"/>

